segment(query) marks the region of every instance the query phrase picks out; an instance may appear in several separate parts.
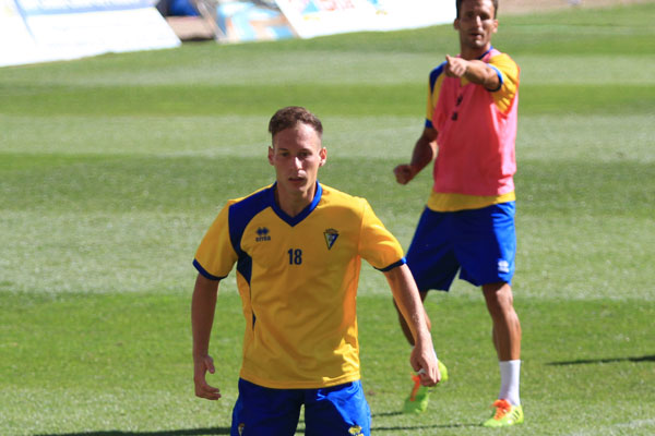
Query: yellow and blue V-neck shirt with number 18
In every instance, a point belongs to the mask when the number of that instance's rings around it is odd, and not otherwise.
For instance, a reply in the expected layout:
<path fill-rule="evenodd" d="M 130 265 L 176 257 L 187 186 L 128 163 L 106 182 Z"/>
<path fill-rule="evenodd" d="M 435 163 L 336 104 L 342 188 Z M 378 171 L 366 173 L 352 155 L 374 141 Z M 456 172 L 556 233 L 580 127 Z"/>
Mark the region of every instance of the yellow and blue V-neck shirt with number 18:
<path fill-rule="evenodd" d="M 193 262 L 222 279 L 237 265 L 246 332 L 240 376 L 279 389 L 359 379 L 356 294 L 361 258 L 389 270 L 405 263 L 368 202 L 317 183 L 289 217 L 275 184 L 229 201 Z"/>

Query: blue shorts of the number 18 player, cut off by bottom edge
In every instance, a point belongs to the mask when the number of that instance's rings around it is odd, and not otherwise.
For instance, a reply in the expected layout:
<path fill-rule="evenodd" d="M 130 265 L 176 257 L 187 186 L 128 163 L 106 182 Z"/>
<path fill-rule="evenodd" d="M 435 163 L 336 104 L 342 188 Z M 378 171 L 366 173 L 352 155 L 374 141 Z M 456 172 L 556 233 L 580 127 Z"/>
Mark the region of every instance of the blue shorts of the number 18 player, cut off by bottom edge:
<path fill-rule="evenodd" d="M 320 389 L 271 389 L 239 378 L 230 435 L 294 436 L 301 405 L 307 436 L 371 433 L 371 411 L 359 380 Z"/>

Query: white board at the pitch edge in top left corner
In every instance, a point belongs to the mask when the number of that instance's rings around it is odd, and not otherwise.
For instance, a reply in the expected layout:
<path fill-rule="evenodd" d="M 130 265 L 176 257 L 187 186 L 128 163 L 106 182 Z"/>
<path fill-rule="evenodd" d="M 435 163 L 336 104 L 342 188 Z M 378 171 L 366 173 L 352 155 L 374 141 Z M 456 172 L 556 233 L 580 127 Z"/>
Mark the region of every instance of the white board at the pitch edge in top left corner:
<path fill-rule="evenodd" d="M 180 44 L 150 0 L 0 0 L 0 66 Z"/>

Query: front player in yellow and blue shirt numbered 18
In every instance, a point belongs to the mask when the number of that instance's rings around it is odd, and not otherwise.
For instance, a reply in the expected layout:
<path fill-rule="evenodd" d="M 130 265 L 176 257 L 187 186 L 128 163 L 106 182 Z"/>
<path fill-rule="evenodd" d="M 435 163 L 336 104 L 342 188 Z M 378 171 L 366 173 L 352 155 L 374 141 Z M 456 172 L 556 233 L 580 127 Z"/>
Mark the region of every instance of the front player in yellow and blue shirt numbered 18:
<path fill-rule="evenodd" d="M 418 290 L 396 239 L 368 202 L 318 182 L 325 164 L 321 121 L 300 107 L 269 123 L 275 183 L 227 202 L 193 265 L 191 323 L 195 395 L 221 398 L 206 373 L 219 281 L 237 265 L 246 317 L 233 436 L 369 435 L 360 384 L 356 294 L 361 258 L 381 270 L 415 339 L 420 383 L 440 379 Z"/>

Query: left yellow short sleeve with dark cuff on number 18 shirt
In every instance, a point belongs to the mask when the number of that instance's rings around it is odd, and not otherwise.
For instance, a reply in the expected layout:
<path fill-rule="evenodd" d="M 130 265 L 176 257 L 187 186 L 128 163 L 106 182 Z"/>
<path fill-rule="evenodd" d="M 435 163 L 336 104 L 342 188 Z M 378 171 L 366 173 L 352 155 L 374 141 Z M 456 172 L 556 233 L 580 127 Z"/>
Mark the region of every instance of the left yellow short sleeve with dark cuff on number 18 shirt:
<path fill-rule="evenodd" d="M 211 280 L 227 277 L 238 258 L 229 234 L 229 206 L 221 210 L 195 252 L 193 266 Z"/>

